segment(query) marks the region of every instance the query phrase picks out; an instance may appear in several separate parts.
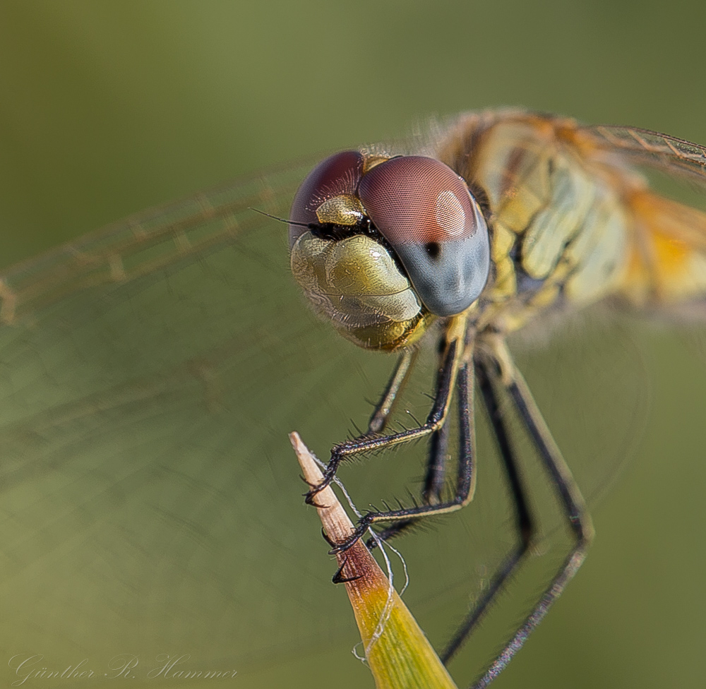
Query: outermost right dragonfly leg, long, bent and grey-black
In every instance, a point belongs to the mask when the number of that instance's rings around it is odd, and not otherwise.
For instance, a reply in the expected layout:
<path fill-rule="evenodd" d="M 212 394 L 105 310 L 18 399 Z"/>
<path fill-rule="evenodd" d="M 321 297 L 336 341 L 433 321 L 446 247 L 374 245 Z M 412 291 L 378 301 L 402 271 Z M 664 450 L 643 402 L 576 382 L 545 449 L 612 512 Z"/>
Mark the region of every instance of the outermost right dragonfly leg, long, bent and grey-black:
<path fill-rule="evenodd" d="M 536 402 L 527 387 L 522 374 L 517 370 L 504 342 L 497 343 L 496 362 L 501 370 L 501 381 L 515 409 L 530 434 L 539 452 L 551 484 L 561 503 L 568 527 L 573 534 L 574 544 L 561 568 L 546 587 L 544 593 L 535 604 L 532 612 L 517 629 L 513 637 L 505 644 L 503 650 L 486 670 L 483 676 L 474 683 L 473 689 L 485 688 L 505 666 L 513 659 L 518 650 L 525 644 L 527 637 L 537 628 L 551 605 L 561 595 L 566 585 L 573 579 L 586 558 L 588 548 L 593 539 L 593 525 L 587 513 L 583 497 L 576 485 L 570 469 L 561 456 L 554 438 L 552 438 L 546 422 L 542 418 Z"/>

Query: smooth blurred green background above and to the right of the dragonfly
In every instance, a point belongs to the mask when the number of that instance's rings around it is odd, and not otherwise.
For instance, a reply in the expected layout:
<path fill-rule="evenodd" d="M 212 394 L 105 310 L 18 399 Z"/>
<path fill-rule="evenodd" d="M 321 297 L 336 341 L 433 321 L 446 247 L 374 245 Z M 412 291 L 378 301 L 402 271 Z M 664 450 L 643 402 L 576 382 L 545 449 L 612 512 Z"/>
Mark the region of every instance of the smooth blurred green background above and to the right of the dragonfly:
<path fill-rule="evenodd" d="M 706 142 L 705 25 L 696 2 L 5 0 L 0 263 L 466 109 Z M 666 334 L 650 357 L 652 416 L 597 543 L 498 689 L 702 684 L 703 359 Z"/>

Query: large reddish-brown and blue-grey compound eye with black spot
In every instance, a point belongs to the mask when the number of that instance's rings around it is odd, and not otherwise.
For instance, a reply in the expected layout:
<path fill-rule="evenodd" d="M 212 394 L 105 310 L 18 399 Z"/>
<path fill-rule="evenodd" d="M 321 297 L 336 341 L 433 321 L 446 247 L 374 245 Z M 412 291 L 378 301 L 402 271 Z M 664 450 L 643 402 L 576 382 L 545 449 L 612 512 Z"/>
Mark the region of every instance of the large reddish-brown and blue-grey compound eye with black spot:
<path fill-rule="evenodd" d="M 392 158 L 361 179 L 358 196 L 431 313 L 453 316 L 478 298 L 490 271 L 488 228 L 450 167 L 417 155 Z"/>

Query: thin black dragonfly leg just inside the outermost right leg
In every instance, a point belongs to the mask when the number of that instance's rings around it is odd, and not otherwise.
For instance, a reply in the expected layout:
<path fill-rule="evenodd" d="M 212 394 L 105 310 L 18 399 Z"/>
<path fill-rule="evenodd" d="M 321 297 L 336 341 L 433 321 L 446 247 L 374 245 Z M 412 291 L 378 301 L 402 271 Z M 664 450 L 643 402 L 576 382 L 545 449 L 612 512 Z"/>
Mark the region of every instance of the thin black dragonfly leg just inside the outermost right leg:
<path fill-rule="evenodd" d="M 484 614 L 488 611 L 490 604 L 501 591 L 503 585 L 505 585 L 508 577 L 510 577 L 517 566 L 520 565 L 522 558 L 530 549 L 532 537 L 534 536 L 534 521 L 532 520 L 532 513 L 530 512 L 527 491 L 525 491 L 525 486 L 522 484 L 520 468 L 513 447 L 510 444 L 508 429 L 503 419 L 503 412 L 498 403 L 498 397 L 493 389 L 486 366 L 487 364 L 484 361 L 476 361 L 476 380 L 486 412 L 488 413 L 491 428 L 493 429 L 493 435 L 496 438 L 498 450 L 500 451 L 505 478 L 508 481 L 510 495 L 512 496 L 513 505 L 515 507 L 517 544 L 505 556 L 503 562 L 491 577 L 489 587 L 476 602 L 474 608 L 467 614 L 462 623 L 460 623 L 455 634 L 443 650 L 443 653 L 440 654 L 441 660 L 444 663 L 447 663 L 453 657 L 455 652 L 460 649 L 477 627 Z"/>

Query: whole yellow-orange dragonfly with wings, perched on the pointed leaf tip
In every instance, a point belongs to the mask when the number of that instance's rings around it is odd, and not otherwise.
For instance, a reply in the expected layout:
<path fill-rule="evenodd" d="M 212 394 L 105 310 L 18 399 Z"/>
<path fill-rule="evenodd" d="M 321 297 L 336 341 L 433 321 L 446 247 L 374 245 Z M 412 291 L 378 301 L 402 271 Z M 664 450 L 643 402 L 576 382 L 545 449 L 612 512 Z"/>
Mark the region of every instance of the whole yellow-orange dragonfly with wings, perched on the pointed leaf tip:
<path fill-rule="evenodd" d="M 416 556 L 405 551 L 413 584 L 414 564 L 436 567 L 412 595 L 432 607 L 451 589 L 465 600 L 478 570 L 457 544 L 479 525 L 453 520 L 483 499 L 479 402 L 510 496 L 511 542 L 494 546 L 483 587 L 440 645 L 443 660 L 460 654 L 542 534 L 518 433 L 570 537 L 473 684 L 488 685 L 593 537 L 514 338 L 596 306 L 698 312 L 706 214 L 654 191 L 641 170 L 702 185 L 705 166 L 706 148 L 639 128 L 466 114 L 423 141 L 249 176 L 5 270 L 8 676 L 59 685 L 67 665 L 98 684 L 247 676 L 334 637 L 349 643 L 345 601 L 321 577 L 321 543 L 301 537 L 310 515 L 283 458 L 292 429 L 333 448 L 308 503 L 354 457 L 373 455 L 351 467 L 349 492 L 375 501 L 403 457 L 424 457 L 417 493 L 368 510 L 333 551 L 370 529 L 378 542 L 423 539 L 431 520 L 433 540 L 449 534 L 453 565 L 439 566 L 429 539 Z M 409 412 L 413 423 L 400 426 L 415 386 L 428 394 L 415 407 L 426 416 Z M 376 395 L 368 426 L 342 439 L 342 424 L 366 416 Z M 385 466 L 371 481 L 373 465 Z"/>

